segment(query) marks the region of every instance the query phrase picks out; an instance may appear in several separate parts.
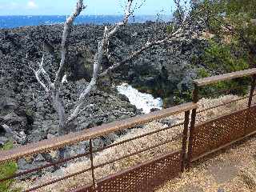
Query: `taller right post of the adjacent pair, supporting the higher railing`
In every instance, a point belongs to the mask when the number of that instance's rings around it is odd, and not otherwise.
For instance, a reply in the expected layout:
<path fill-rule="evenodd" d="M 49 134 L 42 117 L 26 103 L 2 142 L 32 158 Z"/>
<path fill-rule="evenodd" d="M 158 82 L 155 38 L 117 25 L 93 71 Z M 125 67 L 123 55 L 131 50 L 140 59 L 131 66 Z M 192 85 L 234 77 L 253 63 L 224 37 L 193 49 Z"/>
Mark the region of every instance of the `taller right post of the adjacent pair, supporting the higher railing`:
<path fill-rule="evenodd" d="M 198 98 L 198 85 L 194 83 L 194 91 L 193 91 L 193 102 L 197 103 Z M 190 169 L 190 162 L 192 158 L 192 140 L 194 135 L 194 126 L 197 116 L 197 109 L 192 110 L 191 121 L 190 121 L 190 138 L 189 138 L 189 146 L 188 146 L 188 158 L 187 158 L 187 169 Z"/>

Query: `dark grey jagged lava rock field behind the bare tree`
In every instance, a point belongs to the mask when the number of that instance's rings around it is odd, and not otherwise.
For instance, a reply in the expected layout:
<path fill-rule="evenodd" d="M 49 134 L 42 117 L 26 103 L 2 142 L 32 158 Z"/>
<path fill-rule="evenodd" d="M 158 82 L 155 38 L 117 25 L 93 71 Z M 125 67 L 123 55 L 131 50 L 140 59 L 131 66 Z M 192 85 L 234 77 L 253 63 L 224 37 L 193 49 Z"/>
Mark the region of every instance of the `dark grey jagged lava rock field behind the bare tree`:
<path fill-rule="evenodd" d="M 146 22 L 123 28 L 110 42 L 109 49 L 116 60 L 126 58 L 147 41 L 166 37 L 165 23 Z M 66 60 L 68 83 L 62 90 L 66 111 L 70 111 L 78 93 L 92 74 L 92 62 L 103 26 L 74 26 L 69 38 Z M 114 83 L 129 82 L 140 90 L 150 90 L 156 96 L 167 97 L 174 90 L 187 89 L 196 77 L 191 59 L 200 54 L 204 42 L 198 40 L 197 26 L 165 45 L 155 46 L 120 67 L 110 78 L 104 78 L 87 98 L 87 108 L 74 123 L 74 131 L 101 125 L 139 113 L 117 93 Z M 14 135 L 25 135 L 16 142 L 37 142 L 58 134 L 58 119 L 30 67 L 36 68 L 42 57 L 42 46 L 48 47 L 46 70 L 54 77 L 58 69 L 62 26 L 30 26 L 0 30 L 0 124 L 10 127 Z M 104 58 L 103 67 L 110 66 Z M 171 98 L 170 98 L 171 102 Z M 0 129 L 4 130 L 4 129 Z M 2 140 L 6 131 L 0 131 Z M 14 137 L 15 138 L 15 137 Z M 0 139 L 1 142 L 1 139 Z"/>

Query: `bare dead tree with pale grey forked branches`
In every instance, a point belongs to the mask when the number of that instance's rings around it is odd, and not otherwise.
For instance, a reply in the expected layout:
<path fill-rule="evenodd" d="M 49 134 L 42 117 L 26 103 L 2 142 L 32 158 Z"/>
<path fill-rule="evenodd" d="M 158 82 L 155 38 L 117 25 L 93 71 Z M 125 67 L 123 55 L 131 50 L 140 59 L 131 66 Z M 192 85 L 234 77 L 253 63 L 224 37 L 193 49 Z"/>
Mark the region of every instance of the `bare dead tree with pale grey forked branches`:
<path fill-rule="evenodd" d="M 44 70 L 44 62 L 45 62 L 45 52 L 42 55 L 41 62 L 39 63 L 38 70 L 34 70 L 35 77 L 37 78 L 39 84 L 42 88 L 46 91 L 46 93 L 50 94 L 52 104 L 54 109 L 58 113 L 58 122 L 59 122 L 59 134 L 67 134 L 68 127 L 70 122 L 73 122 L 78 115 L 82 113 L 84 110 L 83 106 L 86 102 L 86 97 L 91 93 L 92 90 L 96 89 L 96 84 L 99 78 L 103 78 L 104 76 L 110 74 L 110 71 L 116 69 L 118 66 L 122 66 L 126 62 L 130 61 L 131 59 L 135 58 L 139 54 L 142 54 L 143 51 L 149 49 L 152 46 L 160 45 L 164 42 L 168 42 L 171 38 L 174 38 L 176 35 L 182 33 L 184 23 L 186 22 L 186 18 L 182 21 L 182 24 L 177 27 L 171 34 L 169 34 L 166 38 L 158 39 L 153 42 L 147 42 L 145 46 L 142 46 L 140 49 L 131 53 L 127 58 L 124 58 L 121 62 L 113 62 L 113 65 L 107 68 L 106 70 L 102 71 L 102 58 L 104 55 L 107 56 L 111 60 L 111 54 L 109 53 L 108 45 L 110 39 L 121 29 L 122 26 L 125 26 L 130 18 L 130 15 L 134 13 L 132 10 L 132 3 L 133 0 L 126 0 L 126 8 L 125 14 L 122 19 L 122 22 L 116 23 L 114 26 L 107 27 L 105 26 L 105 30 L 102 36 L 102 40 L 98 42 L 98 50 L 94 56 L 94 72 L 93 76 L 90 80 L 88 86 L 80 94 L 78 101 L 74 104 L 74 109 L 70 111 L 70 115 L 66 117 L 65 107 L 62 104 L 60 99 L 60 91 L 63 85 L 63 79 L 65 78 L 64 75 L 64 66 L 66 61 L 66 53 L 67 53 L 67 39 L 70 36 L 70 30 L 73 26 L 74 19 L 78 17 L 78 15 L 85 9 L 83 0 L 77 1 L 77 6 L 74 10 L 74 13 L 67 18 L 66 23 L 64 25 L 64 30 L 62 34 L 62 45 L 61 45 L 61 62 L 59 64 L 58 72 L 54 78 L 54 81 L 50 79 L 50 75 Z M 114 60 L 114 59 L 112 59 Z"/>

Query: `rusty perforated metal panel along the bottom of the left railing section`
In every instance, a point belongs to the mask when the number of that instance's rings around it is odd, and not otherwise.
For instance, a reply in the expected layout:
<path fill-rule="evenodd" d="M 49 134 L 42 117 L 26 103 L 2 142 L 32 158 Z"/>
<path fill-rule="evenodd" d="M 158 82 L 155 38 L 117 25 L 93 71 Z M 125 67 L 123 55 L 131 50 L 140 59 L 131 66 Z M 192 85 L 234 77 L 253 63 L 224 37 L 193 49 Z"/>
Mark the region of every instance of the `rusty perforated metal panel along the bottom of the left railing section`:
<path fill-rule="evenodd" d="M 98 192 L 148 192 L 162 185 L 181 172 L 182 151 L 154 158 L 149 162 L 123 170 L 118 174 L 102 178 L 97 182 Z M 91 191 L 91 186 L 80 191 Z"/>

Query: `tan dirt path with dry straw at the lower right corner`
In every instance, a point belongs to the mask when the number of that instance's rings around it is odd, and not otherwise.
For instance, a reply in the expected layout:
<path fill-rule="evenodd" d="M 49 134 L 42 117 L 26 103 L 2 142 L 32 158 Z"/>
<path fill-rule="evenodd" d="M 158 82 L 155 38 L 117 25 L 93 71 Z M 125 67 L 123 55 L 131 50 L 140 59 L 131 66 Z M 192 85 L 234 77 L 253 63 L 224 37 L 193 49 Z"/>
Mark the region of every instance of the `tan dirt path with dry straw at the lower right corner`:
<path fill-rule="evenodd" d="M 189 172 L 159 187 L 157 191 L 256 191 L 256 138 L 195 162 Z"/>

